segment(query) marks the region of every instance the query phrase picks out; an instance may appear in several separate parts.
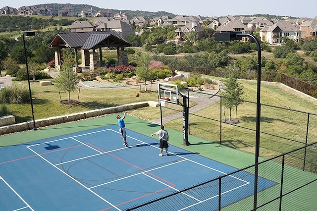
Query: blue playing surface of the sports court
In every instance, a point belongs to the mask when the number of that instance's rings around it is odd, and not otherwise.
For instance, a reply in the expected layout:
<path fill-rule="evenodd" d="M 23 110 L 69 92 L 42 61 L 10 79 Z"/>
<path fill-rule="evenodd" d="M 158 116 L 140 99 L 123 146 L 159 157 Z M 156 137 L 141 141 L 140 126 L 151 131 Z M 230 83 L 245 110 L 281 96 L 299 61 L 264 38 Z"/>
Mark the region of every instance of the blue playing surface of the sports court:
<path fill-rule="evenodd" d="M 111 125 L 1 148 L 0 210 L 126 210 L 237 170 L 171 145 L 170 155 L 159 157 L 155 138 L 127 130 L 124 147 Z M 253 195 L 253 174 L 228 180 L 221 191 L 231 201 L 222 206 Z M 275 183 L 259 177 L 259 185 L 262 191 Z M 184 193 L 184 207 L 168 210 L 217 204 L 218 186 L 209 188 L 209 194 Z"/>

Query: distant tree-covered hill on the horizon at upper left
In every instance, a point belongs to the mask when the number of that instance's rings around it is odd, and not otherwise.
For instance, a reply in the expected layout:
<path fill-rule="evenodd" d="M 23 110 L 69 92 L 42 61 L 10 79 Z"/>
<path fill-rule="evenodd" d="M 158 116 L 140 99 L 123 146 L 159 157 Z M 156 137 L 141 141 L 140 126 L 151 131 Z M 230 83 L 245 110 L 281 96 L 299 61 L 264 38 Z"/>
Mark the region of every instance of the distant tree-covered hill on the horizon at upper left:
<path fill-rule="evenodd" d="M 170 12 L 164 12 L 164 11 L 159 11 L 159 12 L 149 12 L 149 11 L 141 11 L 141 10 L 119 10 L 119 9 L 109 9 L 109 8 L 99 8 L 97 6 L 93 6 L 93 5 L 89 5 L 89 4 L 71 4 L 71 3 L 45 3 L 45 4 L 36 4 L 34 5 L 36 7 L 50 7 L 53 8 L 57 11 L 63 7 L 72 7 L 75 10 L 75 14 L 80 13 L 84 8 L 92 8 L 95 11 L 99 11 L 100 9 L 105 9 L 105 10 L 109 10 L 112 14 L 116 14 L 116 13 L 123 13 L 125 12 L 127 15 L 130 15 L 132 17 L 136 17 L 136 16 L 143 16 L 143 17 L 149 17 L 149 18 L 155 18 L 155 17 L 159 17 L 159 16 L 163 16 L 163 15 L 168 15 L 169 17 L 173 18 L 176 15 L 172 14 Z"/>

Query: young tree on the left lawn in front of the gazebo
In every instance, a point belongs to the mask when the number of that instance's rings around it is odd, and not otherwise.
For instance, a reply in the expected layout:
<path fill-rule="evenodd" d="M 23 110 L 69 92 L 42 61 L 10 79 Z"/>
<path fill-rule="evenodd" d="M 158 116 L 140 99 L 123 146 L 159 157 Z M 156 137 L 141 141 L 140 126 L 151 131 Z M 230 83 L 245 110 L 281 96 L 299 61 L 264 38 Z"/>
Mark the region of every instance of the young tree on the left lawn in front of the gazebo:
<path fill-rule="evenodd" d="M 70 103 L 70 92 L 76 90 L 76 85 L 78 83 L 78 78 L 73 70 L 73 65 L 71 59 L 64 60 L 61 71 L 55 79 L 56 88 L 68 93 L 68 103 Z"/>

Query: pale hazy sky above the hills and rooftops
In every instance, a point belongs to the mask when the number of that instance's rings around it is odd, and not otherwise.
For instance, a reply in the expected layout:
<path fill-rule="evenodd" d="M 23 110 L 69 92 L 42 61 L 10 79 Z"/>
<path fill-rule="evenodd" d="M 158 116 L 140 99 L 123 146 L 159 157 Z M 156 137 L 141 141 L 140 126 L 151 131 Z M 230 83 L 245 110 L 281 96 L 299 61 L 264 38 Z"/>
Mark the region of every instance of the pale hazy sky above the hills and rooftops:
<path fill-rule="evenodd" d="M 316 0 L 206 0 L 205 2 L 192 0 L 14 0 L 5 2 L 0 3 L 0 8 L 4 6 L 19 8 L 44 3 L 71 3 L 89 4 L 110 10 L 165 11 L 175 15 L 204 17 L 253 14 L 308 18 L 317 16 Z"/>

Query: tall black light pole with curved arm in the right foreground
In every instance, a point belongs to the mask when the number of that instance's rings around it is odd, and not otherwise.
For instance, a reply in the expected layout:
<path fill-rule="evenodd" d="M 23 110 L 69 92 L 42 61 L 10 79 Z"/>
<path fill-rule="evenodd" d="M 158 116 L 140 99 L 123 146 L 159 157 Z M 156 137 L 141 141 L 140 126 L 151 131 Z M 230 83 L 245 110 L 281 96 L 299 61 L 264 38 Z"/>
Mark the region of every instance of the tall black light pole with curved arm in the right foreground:
<path fill-rule="evenodd" d="M 257 210 L 257 195 L 258 195 L 258 163 L 260 156 L 260 117 L 261 117 L 261 45 L 259 40 L 252 34 L 237 33 L 237 32 L 226 32 L 226 33 L 215 33 L 215 41 L 230 41 L 230 40 L 241 40 L 242 37 L 251 37 L 257 44 L 258 47 L 258 79 L 257 79 L 257 123 L 256 123 L 256 149 L 255 149 L 255 173 L 254 173 L 254 208 Z"/>

